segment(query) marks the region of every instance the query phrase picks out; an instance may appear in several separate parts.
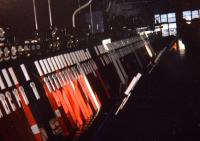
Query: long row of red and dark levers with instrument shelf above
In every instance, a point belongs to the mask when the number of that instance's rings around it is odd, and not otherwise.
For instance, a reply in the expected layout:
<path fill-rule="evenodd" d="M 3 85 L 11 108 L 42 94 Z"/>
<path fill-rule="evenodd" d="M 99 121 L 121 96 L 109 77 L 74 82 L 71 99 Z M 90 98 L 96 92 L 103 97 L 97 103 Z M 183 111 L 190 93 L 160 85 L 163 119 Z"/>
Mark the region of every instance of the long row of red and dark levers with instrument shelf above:
<path fill-rule="evenodd" d="M 106 120 L 129 108 L 138 83 L 151 75 L 175 36 L 162 37 L 162 27 L 138 15 L 129 22 L 111 16 L 110 7 L 118 4 L 113 1 L 102 1 L 107 10 L 95 10 L 92 0 L 74 8 L 68 27 L 55 24 L 53 0 L 45 0 L 49 27 L 43 31 L 40 3 L 29 1 L 33 27 L 13 28 L 2 18 L 0 140 L 95 140 L 109 126 Z M 26 28 L 31 34 L 22 37 Z"/>

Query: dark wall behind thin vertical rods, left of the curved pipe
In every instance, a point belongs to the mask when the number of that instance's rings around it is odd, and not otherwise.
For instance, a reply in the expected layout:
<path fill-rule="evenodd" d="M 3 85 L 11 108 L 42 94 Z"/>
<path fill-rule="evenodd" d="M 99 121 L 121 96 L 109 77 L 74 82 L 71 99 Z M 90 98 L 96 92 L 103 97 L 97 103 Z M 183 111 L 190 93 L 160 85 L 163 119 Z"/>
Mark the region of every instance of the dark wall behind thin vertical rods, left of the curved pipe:
<path fill-rule="evenodd" d="M 35 0 L 40 31 L 49 27 L 47 0 Z M 71 16 L 77 0 L 51 0 L 53 24 L 71 27 Z M 35 28 L 32 0 L 0 0 L 0 26 L 10 27 L 17 36 L 30 36 Z"/>

